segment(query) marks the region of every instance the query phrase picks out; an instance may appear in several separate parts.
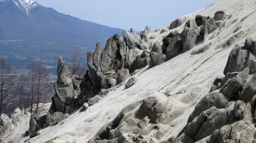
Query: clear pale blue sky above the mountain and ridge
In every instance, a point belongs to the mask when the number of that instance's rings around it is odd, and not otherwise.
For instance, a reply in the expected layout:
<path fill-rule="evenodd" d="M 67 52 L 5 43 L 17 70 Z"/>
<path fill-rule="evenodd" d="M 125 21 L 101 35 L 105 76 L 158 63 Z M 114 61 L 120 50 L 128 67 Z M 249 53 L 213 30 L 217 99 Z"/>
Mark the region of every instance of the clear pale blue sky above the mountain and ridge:
<path fill-rule="evenodd" d="M 121 29 L 154 31 L 217 0 L 35 0 L 83 20 Z"/>

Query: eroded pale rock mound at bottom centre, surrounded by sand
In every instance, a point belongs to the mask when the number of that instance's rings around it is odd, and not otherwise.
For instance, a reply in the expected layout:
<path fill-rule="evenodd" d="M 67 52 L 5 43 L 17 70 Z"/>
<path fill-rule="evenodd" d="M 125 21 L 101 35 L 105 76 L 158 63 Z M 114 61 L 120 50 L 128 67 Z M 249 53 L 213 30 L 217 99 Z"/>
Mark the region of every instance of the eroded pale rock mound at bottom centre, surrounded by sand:
<path fill-rule="evenodd" d="M 134 102 L 126 106 L 111 122 L 105 124 L 88 142 L 157 142 L 166 131 L 161 130 L 172 102 L 165 94 L 154 93 L 143 102 Z M 168 123 L 165 123 L 168 124 Z M 152 127 L 158 126 L 152 131 Z"/>

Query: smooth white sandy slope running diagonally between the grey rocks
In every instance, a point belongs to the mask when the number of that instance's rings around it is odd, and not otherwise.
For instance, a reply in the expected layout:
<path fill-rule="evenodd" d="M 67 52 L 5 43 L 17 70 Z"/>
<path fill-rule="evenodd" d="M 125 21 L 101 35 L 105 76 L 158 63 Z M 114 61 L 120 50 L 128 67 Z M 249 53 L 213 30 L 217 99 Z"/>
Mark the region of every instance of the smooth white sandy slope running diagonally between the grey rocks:
<path fill-rule="evenodd" d="M 54 142 L 87 142 L 104 124 L 113 120 L 125 106 L 143 100 L 154 92 L 168 92 L 171 95 L 170 99 L 178 107 L 175 110 L 181 111 L 180 115 L 175 115 L 177 118 L 172 122 L 169 132 L 162 140 L 177 136 L 186 125 L 195 104 L 209 92 L 213 80 L 217 76 L 224 76 L 223 70 L 232 48 L 236 44 L 243 45 L 248 35 L 256 40 L 255 0 L 221 0 L 187 16 L 188 19 L 194 19 L 198 14 L 213 17 L 219 10 L 225 11 L 228 15 L 232 14 L 232 17 L 226 20 L 226 28 L 220 35 L 209 40 L 209 37 L 219 31 L 217 29 L 207 37 L 204 43 L 195 46 L 192 50 L 153 68 L 144 67 L 134 75 L 138 81 L 131 88 L 126 89 L 124 85 L 119 88 L 114 87 L 116 90 L 112 90 L 97 104 L 89 107 L 86 112 L 77 111 L 65 119 L 64 124 L 40 130 L 41 134 L 30 141 L 41 143 L 57 137 Z M 234 24 L 229 24 L 232 21 L 235 21 Z M 182 32 L 183 26 L 184 24 L 165 33 L 159 34 L 160 31 L 158 31 L 151 35 L 157 35 L 156 39 L 161 41 L 170 31 Z M 235 34 L 233 32 L 238 26 L 242 26 L 239 31 L 244 30 L 242 38 L 231 46 L 218 48 L 220 43 L 224 43 Z M 208 51 L 190 55 L 194 49 L 210 42 L 212 42 L 211 48 Z M 20 142 L 26 139 L 28 137 L 22 137 Z"/>

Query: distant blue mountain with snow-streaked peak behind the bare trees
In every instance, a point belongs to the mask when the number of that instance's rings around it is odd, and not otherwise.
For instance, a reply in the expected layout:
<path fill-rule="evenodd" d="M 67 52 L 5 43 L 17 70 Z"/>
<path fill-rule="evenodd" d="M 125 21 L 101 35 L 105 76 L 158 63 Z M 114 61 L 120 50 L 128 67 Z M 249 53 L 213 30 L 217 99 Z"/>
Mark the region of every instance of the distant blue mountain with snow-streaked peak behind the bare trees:
<path fill-rule="evenodd" d="M 96 43 L 123 30 L 64 15 L 35 1 L 0 0 L 0 56 L 7 56 L 15 69 L 26 69 L 31 60 L 41 57 L 54 67 L 58 57 L 66 57 L 77 42 L 86 52 Z"/>

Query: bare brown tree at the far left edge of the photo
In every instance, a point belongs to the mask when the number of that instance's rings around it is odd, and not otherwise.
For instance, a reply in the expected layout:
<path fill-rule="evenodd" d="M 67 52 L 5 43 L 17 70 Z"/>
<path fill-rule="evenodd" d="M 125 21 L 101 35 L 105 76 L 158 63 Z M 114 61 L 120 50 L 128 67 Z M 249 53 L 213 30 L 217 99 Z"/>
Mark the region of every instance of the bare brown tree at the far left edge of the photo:
<path fill-rule="evenodd" d="M 12 72 L 11 66 L 6 63 L 5 57 L 2 57 L 0 61 L 0 114 L 3 113 L 4 110 L 4 101 L 6 101 L 6 103 L 10 103 L 10 98 L 7 97 L 11 94 L 14 77 L 15 74 Z M 6 110 L 8 110 L 8 107 Z"/>

